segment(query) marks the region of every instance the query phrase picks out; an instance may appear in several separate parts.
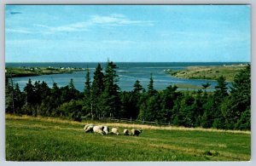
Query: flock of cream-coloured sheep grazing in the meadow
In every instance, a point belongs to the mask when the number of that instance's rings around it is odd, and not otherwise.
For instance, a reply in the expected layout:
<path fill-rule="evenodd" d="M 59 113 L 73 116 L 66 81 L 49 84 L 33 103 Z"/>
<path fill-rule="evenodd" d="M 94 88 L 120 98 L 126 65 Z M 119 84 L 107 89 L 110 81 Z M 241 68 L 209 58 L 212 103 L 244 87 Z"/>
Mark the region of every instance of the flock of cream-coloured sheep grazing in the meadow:
<path fill-rule="evenodd" d="M 104 125 L 95 125 L 95 124 L 86 124 L 84 126 L 85 133 L 97 133 L 101 135 L 119 135 L 119 129 L 112 128 L 111 132 L 109 132 L 108 126 Z M 131 129 L 131 134 L 128 129 L 124 129 L 124 135 L 140 135 L 143 132 L 142 129 Z"/>

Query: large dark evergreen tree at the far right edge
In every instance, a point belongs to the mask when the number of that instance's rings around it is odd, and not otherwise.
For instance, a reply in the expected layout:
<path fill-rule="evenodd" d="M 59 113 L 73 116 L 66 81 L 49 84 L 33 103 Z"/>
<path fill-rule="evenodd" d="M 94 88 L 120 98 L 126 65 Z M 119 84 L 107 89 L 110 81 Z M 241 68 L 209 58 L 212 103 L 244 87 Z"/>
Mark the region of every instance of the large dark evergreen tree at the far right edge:
<path fill-rule="evenodd" d="M 247 65 L 235 78 L 230 96 L 221 104 L 226 129 L 250 129 L 251 70 Z"/>

